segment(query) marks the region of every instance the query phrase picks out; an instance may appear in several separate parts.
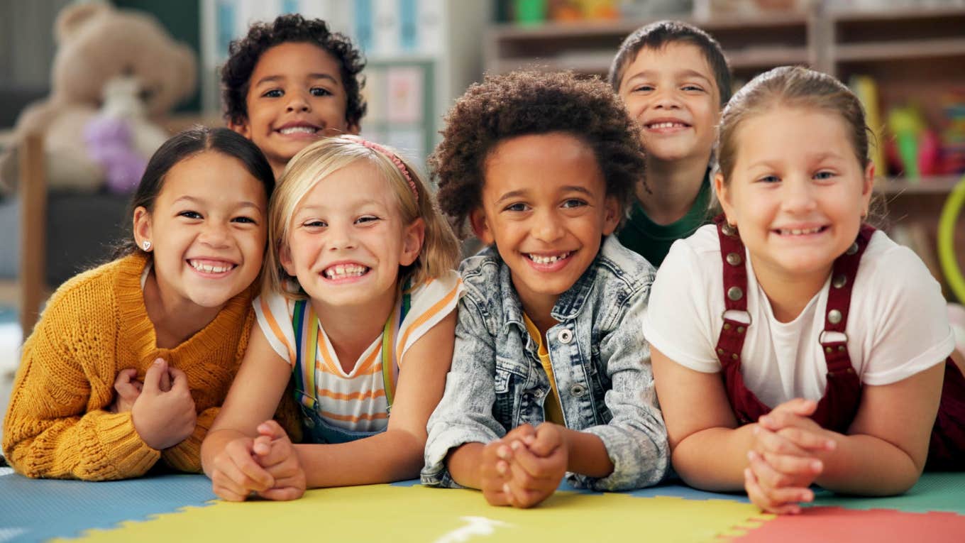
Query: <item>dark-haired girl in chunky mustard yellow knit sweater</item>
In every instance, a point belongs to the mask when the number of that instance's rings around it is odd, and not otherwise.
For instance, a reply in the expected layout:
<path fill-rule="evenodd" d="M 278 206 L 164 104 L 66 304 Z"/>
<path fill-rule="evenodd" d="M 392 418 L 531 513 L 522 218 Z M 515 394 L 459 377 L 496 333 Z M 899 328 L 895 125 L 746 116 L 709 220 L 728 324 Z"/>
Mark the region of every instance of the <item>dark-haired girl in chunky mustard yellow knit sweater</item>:
<path fill-rule="evenodd" d="M 47 303 L 4 419 L 31 477 L 135 477 L 158 460 L 199 472 L 199 449 L 254 320 L 271 167 L 229 129 L 190 129 L 151 158 L 119 258 Z"/>

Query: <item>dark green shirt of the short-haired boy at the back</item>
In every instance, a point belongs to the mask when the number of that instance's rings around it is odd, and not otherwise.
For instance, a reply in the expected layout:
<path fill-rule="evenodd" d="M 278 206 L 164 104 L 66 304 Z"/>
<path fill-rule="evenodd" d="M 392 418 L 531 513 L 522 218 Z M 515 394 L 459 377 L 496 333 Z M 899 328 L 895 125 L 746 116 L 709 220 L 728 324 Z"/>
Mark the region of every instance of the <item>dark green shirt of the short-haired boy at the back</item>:
<path fill-rule="evenodd" d="M 713 218 L 707 206 L 710 203 L 709 170 L 703 177 L 701 191 L 697 193 L 694 205 L 675 222 L 657 224 L 650 220 L 639 201 L 633 203 L 630 217 L 623 224 L 617 238 L 623 246 L 640 253 L 654 268 L 660 268 L 663 259 L 670 252 L 670 246 L 677 240 L 686 238 Z"/>

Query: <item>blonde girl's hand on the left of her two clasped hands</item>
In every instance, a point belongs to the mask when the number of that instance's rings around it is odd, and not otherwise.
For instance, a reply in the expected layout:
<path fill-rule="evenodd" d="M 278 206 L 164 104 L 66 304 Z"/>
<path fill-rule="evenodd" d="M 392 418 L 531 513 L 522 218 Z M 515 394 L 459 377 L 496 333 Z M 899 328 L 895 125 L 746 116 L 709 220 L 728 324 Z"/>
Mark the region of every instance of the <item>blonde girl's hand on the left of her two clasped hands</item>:
<path fill-rule="evenodd" d="M 255 440 L 244 437 L 225 445 L 211 464 L 211 490 L 228 501 L 244 501 L 251 493 L 267 491 L 275 479 L 256 460 Z"/>

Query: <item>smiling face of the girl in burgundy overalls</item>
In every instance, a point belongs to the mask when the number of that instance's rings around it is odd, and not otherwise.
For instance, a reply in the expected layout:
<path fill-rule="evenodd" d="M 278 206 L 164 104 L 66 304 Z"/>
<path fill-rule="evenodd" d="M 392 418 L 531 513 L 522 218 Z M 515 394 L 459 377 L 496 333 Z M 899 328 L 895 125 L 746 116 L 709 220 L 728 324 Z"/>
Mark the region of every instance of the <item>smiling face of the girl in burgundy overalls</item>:
<path fill-rule="evenodd" d="M 735 137 L 731 178 L 714 185 L 758 280 L 819 287 L 868 213 L 873 168 L 855 157 L 841 116 L 819 109 L 778 105 Z"/>

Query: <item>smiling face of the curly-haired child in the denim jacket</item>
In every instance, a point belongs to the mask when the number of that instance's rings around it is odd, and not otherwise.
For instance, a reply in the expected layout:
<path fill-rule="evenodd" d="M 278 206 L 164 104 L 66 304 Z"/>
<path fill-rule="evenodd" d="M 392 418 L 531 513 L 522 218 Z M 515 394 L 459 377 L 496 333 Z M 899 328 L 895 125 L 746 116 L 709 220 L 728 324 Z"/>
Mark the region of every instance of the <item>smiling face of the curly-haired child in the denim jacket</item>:
<path fill-rule="evenodd" d="M 486 158 L 483 205 L 472 213 L 483 243 L 495 243 L 532 318 L 552 307 L 593 263 L 620 222 L 593 150 L 564 132 L 516 136 Z"/>

